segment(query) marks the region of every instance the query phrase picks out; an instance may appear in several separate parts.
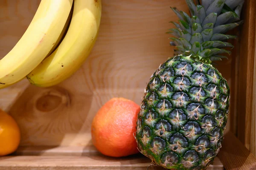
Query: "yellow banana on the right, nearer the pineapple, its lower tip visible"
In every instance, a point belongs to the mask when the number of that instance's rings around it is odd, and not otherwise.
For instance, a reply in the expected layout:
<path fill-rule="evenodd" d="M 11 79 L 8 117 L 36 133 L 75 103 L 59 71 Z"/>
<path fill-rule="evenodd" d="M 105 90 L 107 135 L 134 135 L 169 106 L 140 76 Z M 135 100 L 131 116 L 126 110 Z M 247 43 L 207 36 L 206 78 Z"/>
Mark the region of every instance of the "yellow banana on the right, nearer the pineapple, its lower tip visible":
<path fill-rule="evenodd" d="M 74 0 L 67 34 L 58 48 L 27 75 L 31 84 L 53 86 L 80 68 L 96 41 L 101 10 L 101 0 Z"/>

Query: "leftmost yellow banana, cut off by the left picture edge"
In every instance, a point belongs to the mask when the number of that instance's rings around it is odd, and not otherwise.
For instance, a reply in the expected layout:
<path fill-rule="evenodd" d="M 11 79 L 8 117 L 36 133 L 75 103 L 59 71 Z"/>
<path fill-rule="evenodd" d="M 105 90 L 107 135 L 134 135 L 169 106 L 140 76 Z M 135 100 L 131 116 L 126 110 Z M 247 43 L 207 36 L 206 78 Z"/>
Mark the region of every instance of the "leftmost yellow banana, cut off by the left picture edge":
<path fill-rule="evenodd" d="M 44 60 L 61 35 L 73 0 L 41 0 L 26 32 L 0 60 L 0 89 L 26 77 Z"/>

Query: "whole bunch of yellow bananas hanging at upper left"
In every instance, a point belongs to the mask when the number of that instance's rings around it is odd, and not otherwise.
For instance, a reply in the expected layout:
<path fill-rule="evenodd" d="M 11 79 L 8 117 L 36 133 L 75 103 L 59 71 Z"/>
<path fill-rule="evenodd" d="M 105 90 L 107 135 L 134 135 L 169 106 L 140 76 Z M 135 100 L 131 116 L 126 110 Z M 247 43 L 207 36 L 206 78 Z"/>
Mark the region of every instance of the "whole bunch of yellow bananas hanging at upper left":
<path fill-rule="evenodd" d="M 76 72 L 99 31 L 101 0 L 41 0 L 15 47 L 0 60 L 0 89 L 27 78 L 53 86 Z"/>

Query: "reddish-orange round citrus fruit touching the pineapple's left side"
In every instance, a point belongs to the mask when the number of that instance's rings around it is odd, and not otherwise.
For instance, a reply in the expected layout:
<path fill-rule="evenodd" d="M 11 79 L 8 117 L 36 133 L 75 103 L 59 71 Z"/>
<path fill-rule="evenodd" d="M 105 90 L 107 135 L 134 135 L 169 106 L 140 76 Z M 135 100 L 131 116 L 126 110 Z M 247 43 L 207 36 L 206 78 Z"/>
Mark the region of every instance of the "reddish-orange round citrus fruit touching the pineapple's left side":
<path fill-rule="evenodd" d="M 93 145 L 106 156 L 122 157 L 139 152 L 134 138 L 140 106 L 125 98 L 112 98 L 93 118 Z"/>

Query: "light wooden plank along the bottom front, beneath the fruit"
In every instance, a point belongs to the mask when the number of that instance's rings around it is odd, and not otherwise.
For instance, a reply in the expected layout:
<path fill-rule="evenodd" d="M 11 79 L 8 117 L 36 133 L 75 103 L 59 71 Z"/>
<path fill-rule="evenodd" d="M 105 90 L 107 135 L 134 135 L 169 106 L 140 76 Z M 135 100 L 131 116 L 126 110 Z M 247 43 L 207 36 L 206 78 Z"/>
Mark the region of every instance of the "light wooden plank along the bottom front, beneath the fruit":
<path fill-rule="evenodd" d="M 0 157 L 0 170 L 146 170 L 149 158 L 140 154 L 125 158 L 107 156 L 5 156 Z M 150 166 L 148 170 L 164 170 Z M 207 170 L 224 170 L 215 158 Z"/>

